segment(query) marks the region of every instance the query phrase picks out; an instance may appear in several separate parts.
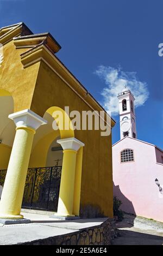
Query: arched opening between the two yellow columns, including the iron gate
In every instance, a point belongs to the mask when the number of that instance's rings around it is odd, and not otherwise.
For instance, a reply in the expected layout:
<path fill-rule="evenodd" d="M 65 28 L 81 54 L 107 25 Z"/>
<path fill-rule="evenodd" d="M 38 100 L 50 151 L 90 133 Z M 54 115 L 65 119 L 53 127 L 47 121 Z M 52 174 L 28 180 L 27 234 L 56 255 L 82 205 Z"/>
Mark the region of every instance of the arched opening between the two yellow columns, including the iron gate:
<path fill-rule="evenodd" d="M 62 120 L 58 117 L 60 114 Z M 74 137 L 74 131 L 70 118 L 58 107 L 49 108 L 43 118 L 48 123 L 40 127 L 34 137 L 22 207 L 57 211 L 63 159 L 57 140 Z M 65 122 L 68 129 L 64 129 Z M 54 124 L 58 129 L 54 130 Z"/>

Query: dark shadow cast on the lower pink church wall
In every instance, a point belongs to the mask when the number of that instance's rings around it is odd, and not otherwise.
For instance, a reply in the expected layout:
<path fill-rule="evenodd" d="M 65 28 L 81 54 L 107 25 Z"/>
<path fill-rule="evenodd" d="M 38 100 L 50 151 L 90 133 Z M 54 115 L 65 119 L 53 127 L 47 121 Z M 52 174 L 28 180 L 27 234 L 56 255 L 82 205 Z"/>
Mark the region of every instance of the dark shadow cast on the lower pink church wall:
<path fill-rule="evenodd" d="M 114 194 L 114 197 L 117 197 L 119 200 L 122 201 L 122 205 L 120 209 L 123 212 L 136 216 L 133 203 L 127 197 L 125 197 L 125 195 L 121 192 L 120 186 L 118 185 L 115 186 L 114 182 L 113 182 L 113 194 Z M 130 224 L 134 224 L 134 219 L 135 218 L 133 217 L 133 223 L 130 223 Z"/>

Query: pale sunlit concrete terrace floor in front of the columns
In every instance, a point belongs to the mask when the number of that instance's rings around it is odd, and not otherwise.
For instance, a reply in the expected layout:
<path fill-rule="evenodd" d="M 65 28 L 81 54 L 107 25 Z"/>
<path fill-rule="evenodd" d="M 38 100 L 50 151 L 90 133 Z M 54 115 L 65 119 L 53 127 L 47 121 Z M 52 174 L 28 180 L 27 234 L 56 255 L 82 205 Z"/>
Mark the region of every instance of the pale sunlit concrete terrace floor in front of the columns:
<path fill-rule="evenodd" d="M 37 241 L 48 237 L 72 234 L 78 230 L 101 225 L 107 218 L 78 219 L 76 221 L 59 221 L 48 215 L 22 213 L 31 219 L 29 224 L 0 224 L 0 245 L 17 245 Z"/>

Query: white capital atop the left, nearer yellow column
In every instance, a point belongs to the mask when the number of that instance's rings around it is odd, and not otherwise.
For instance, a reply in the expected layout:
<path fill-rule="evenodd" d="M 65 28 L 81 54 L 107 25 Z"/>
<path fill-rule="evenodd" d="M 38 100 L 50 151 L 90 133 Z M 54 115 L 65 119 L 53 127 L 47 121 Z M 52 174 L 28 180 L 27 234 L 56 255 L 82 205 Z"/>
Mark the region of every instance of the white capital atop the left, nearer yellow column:
<path fill-rule="evenodd" d="M 47 124 L 47 121 L 41 116 L 37 115 L 30 109 L 25 109 L 14 114 L 9 115 L 9 118 L 14 121 L 16 127 L 31 127 L 34 130 Z"/>

